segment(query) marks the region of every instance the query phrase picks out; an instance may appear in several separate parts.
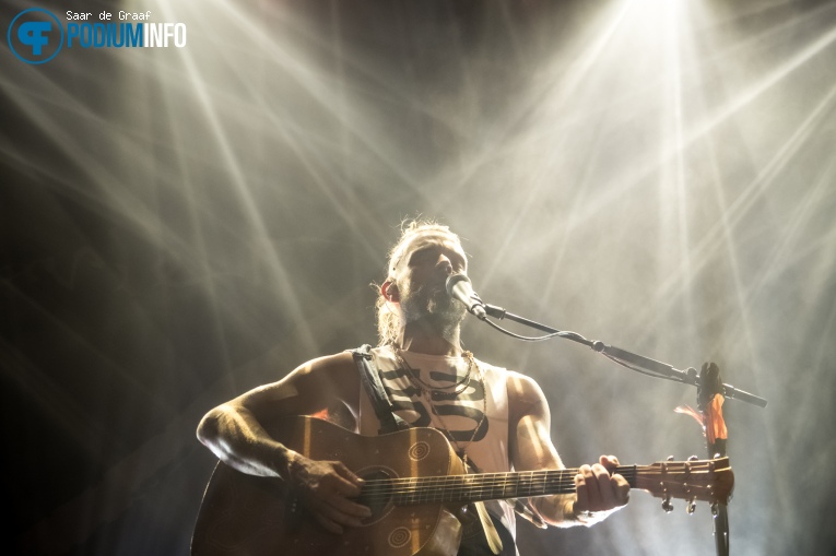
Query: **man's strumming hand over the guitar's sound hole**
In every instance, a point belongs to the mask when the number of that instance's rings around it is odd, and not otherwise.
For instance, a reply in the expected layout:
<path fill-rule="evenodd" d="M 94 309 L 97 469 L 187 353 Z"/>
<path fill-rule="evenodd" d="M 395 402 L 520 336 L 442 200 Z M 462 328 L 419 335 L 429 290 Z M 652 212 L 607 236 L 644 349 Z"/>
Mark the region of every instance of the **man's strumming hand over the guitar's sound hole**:
<path fill-rule="evenodd" d="M 291 489 L 327 531 L 341 534 L 343 527 L 361 527 L 372 510 L 350 498 L 360 496 L 363 480 L 339 461 L 316 461 L 292 452 L 287 474 Z"/>

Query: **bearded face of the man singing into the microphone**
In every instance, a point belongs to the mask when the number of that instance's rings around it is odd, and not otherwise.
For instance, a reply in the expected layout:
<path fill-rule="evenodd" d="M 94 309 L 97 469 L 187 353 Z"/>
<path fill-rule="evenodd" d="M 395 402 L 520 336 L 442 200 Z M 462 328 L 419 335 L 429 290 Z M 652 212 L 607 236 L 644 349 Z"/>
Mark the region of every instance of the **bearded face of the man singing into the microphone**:
<path fill-rule="evenodd" d="M 445 283 L 450 274 L 467 273 L 461 244 L 449 234 L 427 232 L 412 238 L 396 257 L 393 277 L 405 322 L 428 317 L 443 327 L 458 326 L 467 308 L 447 295 Z"/>

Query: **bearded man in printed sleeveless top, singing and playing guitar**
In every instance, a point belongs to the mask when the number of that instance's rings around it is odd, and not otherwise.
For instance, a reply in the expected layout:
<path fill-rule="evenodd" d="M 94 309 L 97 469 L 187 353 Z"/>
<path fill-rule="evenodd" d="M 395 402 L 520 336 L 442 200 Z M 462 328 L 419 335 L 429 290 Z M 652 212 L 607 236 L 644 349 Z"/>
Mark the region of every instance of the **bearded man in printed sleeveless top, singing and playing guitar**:
<path fill-rule="evenodd" d="M 377 303 L 380 341 L 369 363 L 392 413 L 410 426 L 444 433 L 472 472 L 564 469 L 537 382 L 461 347 L 467 309 L 447 294 L 445 283 L 467 271 L 467 255 L 447 226 L 412 222 L 390 251 Z M 281 477 L 323 534 L 343 534 L 370 516 L 356 500 L 363 480 L 341 462 L 314 461 L 286 448 L 262 424 L 327 412 L 349 430 L 377 435 L 381 423 L 363 380 L 352 352 L 310 360 L 210 411 L 198 438 L 242 473 Z M 596 523 L 627 504 L 629 485 L 608 471 L 617 464 L 602 456 L 579 469 L 575 494 L 534 497 L 516 509 L 556 527 Z M 485 502 L 464 513 L 482 519 L 462 528 L 458 555 L 516 554 L 513 501 Z"/>

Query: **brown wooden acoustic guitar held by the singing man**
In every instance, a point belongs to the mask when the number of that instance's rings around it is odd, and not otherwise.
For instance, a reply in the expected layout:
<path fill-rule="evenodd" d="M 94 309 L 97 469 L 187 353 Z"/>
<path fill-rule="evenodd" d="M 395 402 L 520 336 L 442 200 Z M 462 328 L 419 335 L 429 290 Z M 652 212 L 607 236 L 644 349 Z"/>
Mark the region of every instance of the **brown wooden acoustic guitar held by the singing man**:
<path fill-rule="evenodd" d="M 365 484 L 357 502 L 372 509 L 363 527 L 325 531 L 279 478 L 219 463 L 203 496 L 192 556 L 452 556 L 467 504 L 569 494 L 576 469 L 466 474 L 447 438 L 432 428 L 360 436 L 313 417 L 284 419 L 268 433 L 303 456 L 341 461 Z M 726 504 L 734 475 L 728 458 L 658 462 L 615 470 L 632 488 L 671 498 Z"/>

